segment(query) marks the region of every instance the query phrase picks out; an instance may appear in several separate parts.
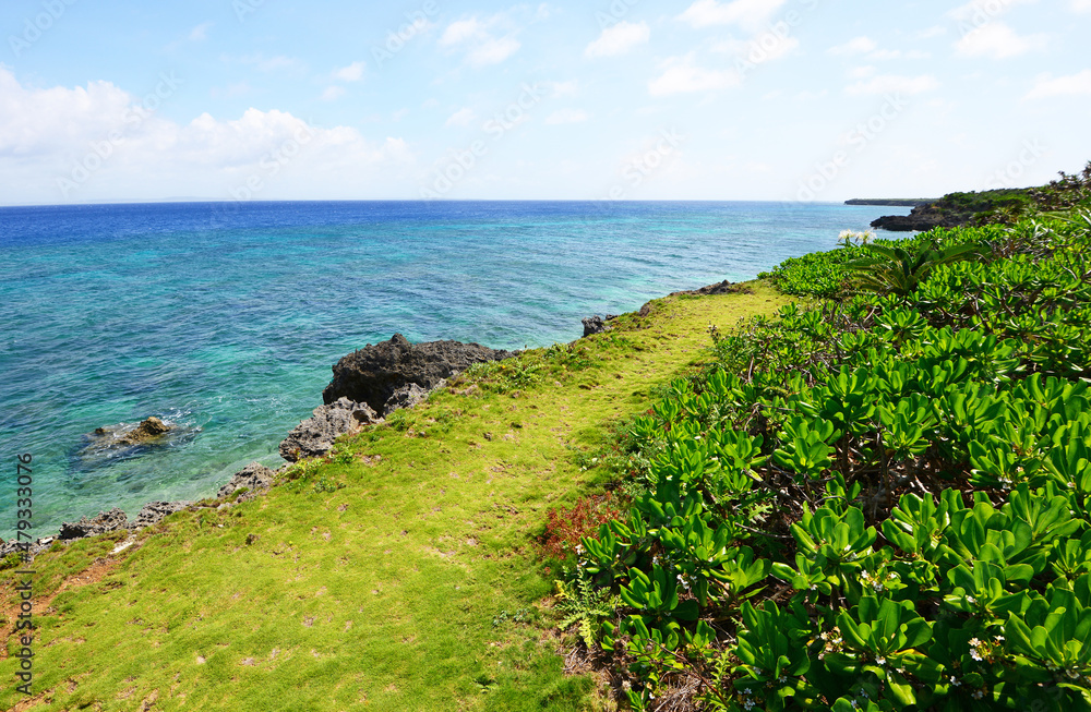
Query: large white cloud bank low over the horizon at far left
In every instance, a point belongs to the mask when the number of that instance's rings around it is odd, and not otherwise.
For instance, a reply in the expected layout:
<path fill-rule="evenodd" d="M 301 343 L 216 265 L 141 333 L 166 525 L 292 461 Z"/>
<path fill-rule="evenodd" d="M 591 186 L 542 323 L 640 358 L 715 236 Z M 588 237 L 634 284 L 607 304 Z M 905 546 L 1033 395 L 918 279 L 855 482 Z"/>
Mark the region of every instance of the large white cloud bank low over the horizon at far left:
<path fill-rule="evenodd" d="M 169 93 L 161 101 L 171 101 Z M 109 82 L 26 87 L 0 67 L 4 200 L 161 198 L 193 195 L 194 186 L 201 197 L 229 198 L 251 177 L 265 186 L 263 198 L 345 197 L 346 186 L 361 182 L 383 190 L 415 160 L 401 138 L 372 142 L 356 129 L 319 129 L 275 109 L 178 123 L 142 102 Z M 91 170 L 77 171 L 81 165 Z"/>

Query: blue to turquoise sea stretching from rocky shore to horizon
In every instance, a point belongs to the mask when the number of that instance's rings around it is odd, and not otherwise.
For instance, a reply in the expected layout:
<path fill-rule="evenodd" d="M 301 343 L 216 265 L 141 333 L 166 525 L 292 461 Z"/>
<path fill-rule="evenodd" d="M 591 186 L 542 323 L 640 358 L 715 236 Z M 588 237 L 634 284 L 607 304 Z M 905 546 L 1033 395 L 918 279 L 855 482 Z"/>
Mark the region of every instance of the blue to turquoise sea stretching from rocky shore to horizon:
<path fill-rule="evenodd" d="M 0 208 L 0 535 L 16 454 L 37 535 L 212 495 L 321 405 L 331 365 L 400 331 L 495 348 L 750 279 L 908 208 L 777 203 L 352 202 Z M 192 436 L 81 456 L 157 415 Z"/>

